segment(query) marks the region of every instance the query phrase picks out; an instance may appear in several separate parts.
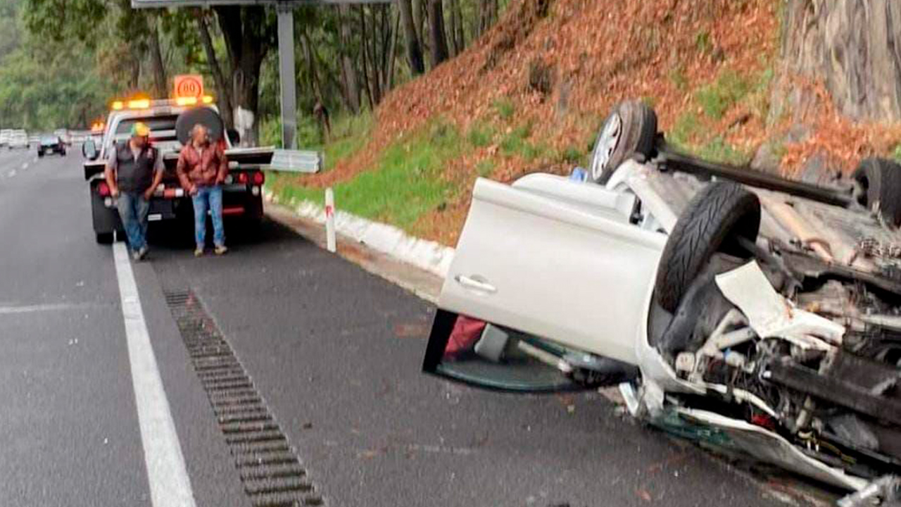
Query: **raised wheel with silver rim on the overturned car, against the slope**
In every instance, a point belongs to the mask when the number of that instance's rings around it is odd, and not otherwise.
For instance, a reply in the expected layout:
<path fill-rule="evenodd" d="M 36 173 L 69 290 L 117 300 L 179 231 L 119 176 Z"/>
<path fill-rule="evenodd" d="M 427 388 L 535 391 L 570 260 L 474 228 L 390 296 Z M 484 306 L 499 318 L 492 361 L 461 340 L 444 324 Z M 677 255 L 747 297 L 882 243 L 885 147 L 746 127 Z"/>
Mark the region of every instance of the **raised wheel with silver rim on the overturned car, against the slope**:
<path fill-rule="evenodd" d="M 657 114 L 651 107 L 639 100 L 617 104 L 597 134 L 588 178 L 603 185 L 633 154 L 650 157 L 656 136 Z"/>

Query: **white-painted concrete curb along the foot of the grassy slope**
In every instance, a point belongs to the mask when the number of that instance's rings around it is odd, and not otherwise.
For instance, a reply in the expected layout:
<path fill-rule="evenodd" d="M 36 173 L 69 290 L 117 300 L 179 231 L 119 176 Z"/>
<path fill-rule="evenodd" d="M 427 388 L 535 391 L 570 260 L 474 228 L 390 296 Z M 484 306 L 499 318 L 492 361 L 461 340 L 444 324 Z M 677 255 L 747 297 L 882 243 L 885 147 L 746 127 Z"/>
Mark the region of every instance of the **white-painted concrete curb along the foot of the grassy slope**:
<path fill-rule="evenodd" d="M 267 202 L 291 209 L 298 217 L 306 218 L 317 224 L 325 224 L 325 209 L 312 201 L 292 199 L 290 202 L 279 202 L 278 196 L 265 189 L 263 198 Z M 337 206 L 341 206 L 341 203 L 337 203 Z M 407 235 L 395 226 L 374 222 L 336 209 L 335 230 L 340 235 L 366 244 L 373 250 L 386 253 L 400 262 L 432 272 L 442 279 L 447 276 L 448 270 L 451 268 L 453 248 Z"/>

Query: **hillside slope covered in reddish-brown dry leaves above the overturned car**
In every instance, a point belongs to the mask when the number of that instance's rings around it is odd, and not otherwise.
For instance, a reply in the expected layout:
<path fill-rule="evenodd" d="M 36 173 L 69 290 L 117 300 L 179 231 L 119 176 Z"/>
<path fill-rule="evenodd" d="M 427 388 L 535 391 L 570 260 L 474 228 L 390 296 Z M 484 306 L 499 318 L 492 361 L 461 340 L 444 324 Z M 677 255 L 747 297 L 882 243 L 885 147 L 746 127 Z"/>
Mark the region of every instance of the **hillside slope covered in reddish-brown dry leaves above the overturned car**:
<path fill-rule="evenodd" d="M 560 153 L 586 153 L 600 121 L 624 98 L 648 101 L 662 131 L 724 160 L 749 161 L 768 138 L 780 139 L 769 156 L 777 164 L 787 162 L 783 171 L 794 171 L 813 152 L 825 151 L 851 166 L 862 153 L 874 151 L 874 143 L 885 149 L 887 135 L 843 121 L 824 95 L 806 118 L 815 125 L 814 135 L 803 142 L 791 143 L 785 135 L 791 128 L 788 115 L 770 115 L 779 5 L 778 0 L 512 0 L 500 22 L 468 51 L 386 97 L 362 150 L 303 185 L 349 180 L 371 167 L 388 144 L 438 118 L 461 133 L 482 124 L 500 134 L 527 125 L 528 141 L 543 147 L 538 156 L 498 152 L 492 143 L 447 164 L 444 178 L 463 191 L 452 192 L 416 230 L 455 244 L 469 207 L 465 190 L 477 176 L 478 162 L 491 159 L 490 177 L 496 180 L 569 171 L 573 157 Z M 779 82 L 785 86 L 785 79 Z M 505 104 L 503 114 L 499 103 Z M 848 135 L 854 143 L 847 143 Z"/>

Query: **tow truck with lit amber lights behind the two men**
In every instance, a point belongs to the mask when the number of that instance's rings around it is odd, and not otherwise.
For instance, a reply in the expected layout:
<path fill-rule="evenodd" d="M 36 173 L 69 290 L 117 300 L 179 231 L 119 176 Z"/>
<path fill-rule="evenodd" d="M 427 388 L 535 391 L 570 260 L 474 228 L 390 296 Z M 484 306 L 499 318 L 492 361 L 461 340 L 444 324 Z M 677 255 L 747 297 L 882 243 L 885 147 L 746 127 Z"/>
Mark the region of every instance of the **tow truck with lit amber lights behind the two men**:
<path fill-rule="evenodd" d="M 113 102 L 97 145 L 94 137 L 86 139 L 82 153 L 85 180 L 91 199 L 94 233 L 99 244 L 110 244 L 115 234 L 123 236 L 122 221 L 109 186 L 105 167 L 115 143 L 129 138 L 132 124 L 142 122 L 150 127 L 150 143 L 159 150 L 166 172 L 150 199 L 150 222 L 193 221 L 194 208 L 190 196 L 181 188 L 175 172 L 178 153 L 187 143 L 195 124 L 205 124 L 214 143 L 224 143 L 229 161 L 229 175 L 223 185 L 223 216 L 232 223 L 240 219 L 250 230 L 259 227 L 263 217 L 262 186 L 274 148 L 237 148 L 238 134 L 226 131 L 213 97 L 177 97 L 166 99 L 134 98 Z"/>

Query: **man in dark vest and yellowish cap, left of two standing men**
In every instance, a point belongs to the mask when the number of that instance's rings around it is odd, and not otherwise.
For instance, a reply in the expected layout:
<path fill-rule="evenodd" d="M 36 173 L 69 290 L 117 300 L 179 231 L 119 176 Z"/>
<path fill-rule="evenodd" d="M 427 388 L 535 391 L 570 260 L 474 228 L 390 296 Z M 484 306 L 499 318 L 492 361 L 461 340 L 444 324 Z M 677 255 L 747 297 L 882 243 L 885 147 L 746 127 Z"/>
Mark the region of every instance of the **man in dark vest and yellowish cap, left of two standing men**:
<path fill-rule="evenodd" d="M 141 261 L 147 255 L 147 216 L 150 198 L 163 179 L 163 158 L 150 146 L 150 128 L 137 122 L 132 125 L 132 137 L 117 143 L 106 162 L 106 184 L 116 198 L 119 217 L 132 257 Z"/>

